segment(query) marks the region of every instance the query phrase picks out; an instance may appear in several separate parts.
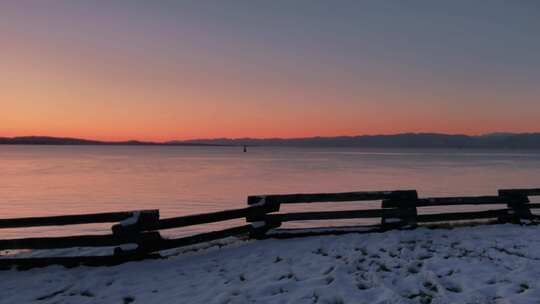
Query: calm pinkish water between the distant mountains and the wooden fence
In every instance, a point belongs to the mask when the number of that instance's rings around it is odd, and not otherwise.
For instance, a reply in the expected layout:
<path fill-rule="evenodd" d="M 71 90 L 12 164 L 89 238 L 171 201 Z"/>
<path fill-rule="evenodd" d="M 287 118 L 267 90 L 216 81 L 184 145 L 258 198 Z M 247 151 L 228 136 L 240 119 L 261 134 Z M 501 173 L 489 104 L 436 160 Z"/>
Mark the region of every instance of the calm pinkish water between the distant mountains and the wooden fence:
<path fill-rule="evenodd" d="M 534 151 L 0 146 L 0 218 L 153 208 L 168 217 L 243 207 L 250 194 L 539 186 Z"/>

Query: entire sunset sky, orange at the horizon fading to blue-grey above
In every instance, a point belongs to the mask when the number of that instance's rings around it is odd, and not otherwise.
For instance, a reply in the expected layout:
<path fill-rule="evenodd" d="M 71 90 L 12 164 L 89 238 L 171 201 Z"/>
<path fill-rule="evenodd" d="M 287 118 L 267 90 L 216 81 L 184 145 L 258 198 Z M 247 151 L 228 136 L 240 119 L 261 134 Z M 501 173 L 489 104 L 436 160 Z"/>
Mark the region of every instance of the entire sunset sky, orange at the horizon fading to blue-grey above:
<path fill-rule="evenodd" d="M 0 43 L 0 137 L 540 131 L 535 0 L 6 0 Z"/>

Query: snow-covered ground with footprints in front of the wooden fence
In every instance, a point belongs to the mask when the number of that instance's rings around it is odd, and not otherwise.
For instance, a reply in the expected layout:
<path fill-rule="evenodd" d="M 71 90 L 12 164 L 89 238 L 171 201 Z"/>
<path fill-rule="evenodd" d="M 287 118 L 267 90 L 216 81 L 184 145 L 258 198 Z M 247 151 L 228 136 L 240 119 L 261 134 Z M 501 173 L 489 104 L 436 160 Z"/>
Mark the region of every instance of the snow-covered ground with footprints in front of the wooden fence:
<path fill-rule="evenodd" d="M 539 277 L 540 227 L 420 228 L 0 271 L 0 302 L 538 303 Z"/>

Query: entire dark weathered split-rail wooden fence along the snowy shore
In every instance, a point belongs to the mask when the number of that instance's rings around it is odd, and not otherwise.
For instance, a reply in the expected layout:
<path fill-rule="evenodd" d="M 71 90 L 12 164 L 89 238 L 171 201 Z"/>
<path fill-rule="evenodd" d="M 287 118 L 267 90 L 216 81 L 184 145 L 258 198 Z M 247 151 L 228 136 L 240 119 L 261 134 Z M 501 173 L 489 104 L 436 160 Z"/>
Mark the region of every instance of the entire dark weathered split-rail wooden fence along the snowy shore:
<path fill-rule="evenodd" d="M 531 209 L 540 209 L 540 203 L 530 203 L 529 197 L 540 196 L 540 189 L 502 189 L 496 196 L 432 197 L 419 198 L 416 190 L 368 191 L 345 193 L 312 193 L 286 195 L 257 195 L 248 197 L 248 206 L 204 214 L 161 219 L 159 210 L 109 212 L 83 215 L 63 215 L 0 219 L 0 229 L 43 226 L 80 225 L 93 223 L 114 223 L 110 234 L 77 235 L 62 237 L 18 238 L 0 240 L 2 250 L 59 249 L 71 247 L 111 247 L 108 256 L 71 256 L 12 258 L 1 257 L 0 269 L 37 267 L 50 264 L 75 265 L 115 265 L 126 261 L 145 258 L 159 258 L 162 250 L 205 243 L 230 236 L 298 237 L 319 234 L 341 234 L 351 231 L 385 231 L 389 229 L 414 228 L 423 223 L 492 220 L 499 223 L 524 223 L 540 219 Z M 309 204 L 351 202 L 379 202 L 380 208 L 373 206 L 358 210 L 280 212 L 282 204 Z M 436 206 L 484 205 L 487 210 L 472 212 L 444 212 L 419 214 L 419 209 Z M 493 206 L 503 205 L 492 209 Z M 211 231 L 180 238 L 164 238 L 160 231 L 193 225 L 203 225 L 244 219 L 245 224 L 218 231 Z M 348 227 L 317 227 L 283 229 L 283 223 L 294 221 L 380 219 L 377 225 L 357 225 Z M 360 223 L 360 222 L 359 222 Z M 133 248 L 125 249 L 125 244 Z"/>

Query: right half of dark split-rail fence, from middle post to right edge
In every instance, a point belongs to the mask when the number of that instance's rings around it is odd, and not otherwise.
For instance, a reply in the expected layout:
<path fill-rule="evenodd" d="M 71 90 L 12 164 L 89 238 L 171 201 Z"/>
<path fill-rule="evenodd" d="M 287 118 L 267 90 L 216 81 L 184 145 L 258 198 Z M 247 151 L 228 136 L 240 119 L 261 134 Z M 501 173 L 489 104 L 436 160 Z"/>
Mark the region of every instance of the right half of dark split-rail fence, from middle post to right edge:
<path fill-rule="evenodd" d="M 430 197 L 419 198 L 416 190 L 319 193 L 319 194 L 286 194 L 250 196 L 248 204 L 267 206 L 279 211 L 282 204 L 309 204 L 327 202 L 363 203 L 380 201 L 380 209 L 359 209 L 346 211 L 317 211 L 266 213 L 248 217 L 247 221 L 259 223 L 263 233 L 256 237 L 289 237 L 318 234 L 338 234 L 354 231 L 385 231 L 396 228 L 414 228 L 422 223 L 494 220 L 498 223 L 522 223 L 538 220 L 531 209 L 539 209 L 540 204 L 531 204 L 530 196 L 540 196 L 540 189 L 503 189 L 496 196 L 463 196 L 463 197 Z M 419 214 L 423 207 L 451 207 L 460 205 L 484 205 L 488 210 L 467 212 L 444 212 Z M 504 205 L 492 209 L 492 206 Z M 343 219 L 381 219 L 380 225 L 358 225 L 348 227 L 317 227 L 312 229 L 280 229 L 285 222 L 343 220 Z M 366 229 L 369 228 L 369 229 Z"/>

